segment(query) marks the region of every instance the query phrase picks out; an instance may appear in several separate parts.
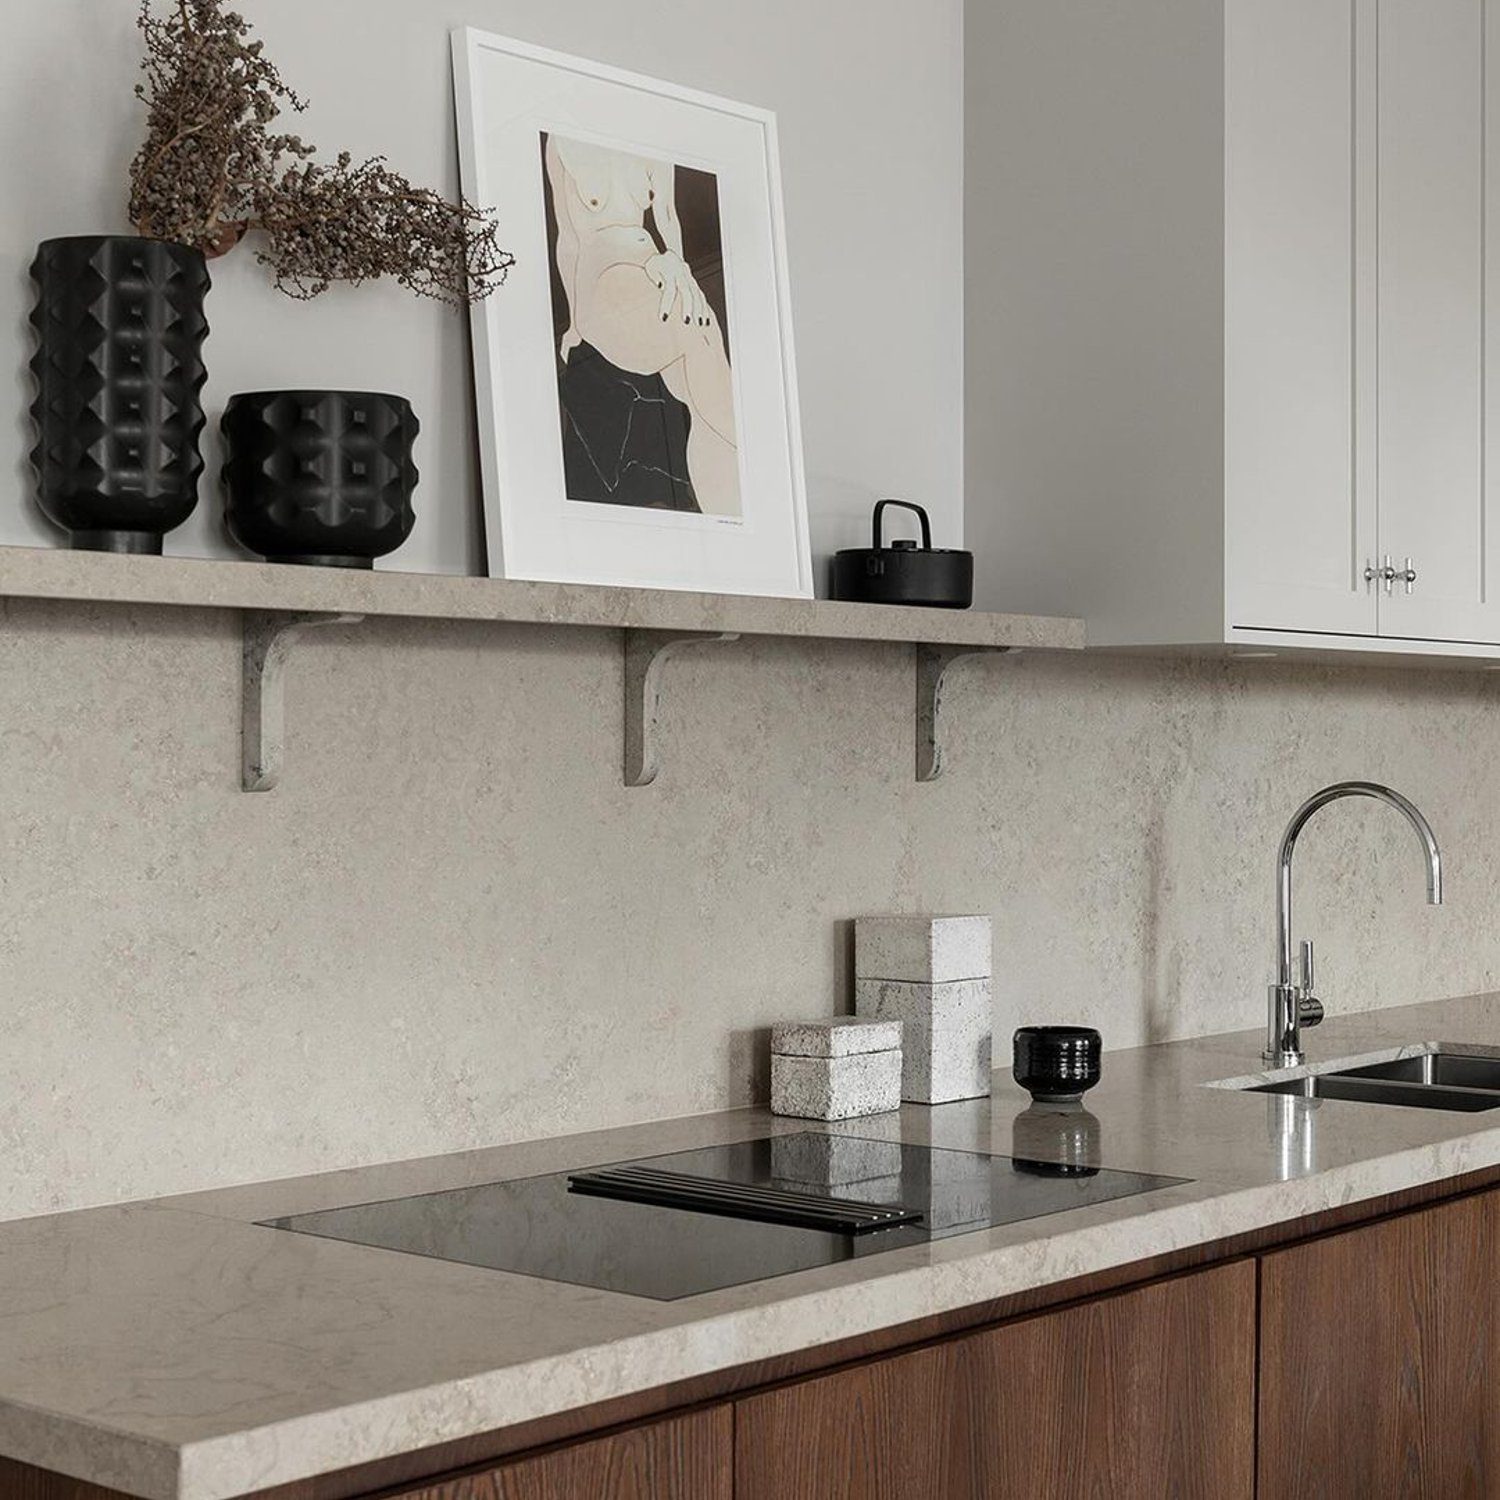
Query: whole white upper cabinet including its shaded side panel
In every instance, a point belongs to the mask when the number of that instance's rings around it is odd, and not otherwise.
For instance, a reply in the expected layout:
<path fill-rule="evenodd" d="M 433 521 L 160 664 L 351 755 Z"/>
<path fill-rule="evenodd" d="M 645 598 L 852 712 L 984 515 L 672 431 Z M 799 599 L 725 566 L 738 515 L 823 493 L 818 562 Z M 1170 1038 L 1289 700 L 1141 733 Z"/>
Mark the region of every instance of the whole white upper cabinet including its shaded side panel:
<path fill-rule="evenodd" d="M 968 27 L 981 603 L 1101 645 L 1500 656 L 1500 0 Z"/>

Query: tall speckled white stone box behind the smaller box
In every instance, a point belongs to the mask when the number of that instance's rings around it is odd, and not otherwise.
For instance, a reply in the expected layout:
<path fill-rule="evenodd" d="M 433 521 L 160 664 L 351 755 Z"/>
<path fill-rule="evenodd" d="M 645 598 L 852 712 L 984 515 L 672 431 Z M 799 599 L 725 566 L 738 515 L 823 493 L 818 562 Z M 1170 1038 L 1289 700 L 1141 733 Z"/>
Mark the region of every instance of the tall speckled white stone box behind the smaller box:
<path fill-rule="evenodd" d="M 903 1100 L 946 1104 L 988 1095 L 988 916 L 861 916 L 854 972 L 856 1014 L 902 1023 Z"/>

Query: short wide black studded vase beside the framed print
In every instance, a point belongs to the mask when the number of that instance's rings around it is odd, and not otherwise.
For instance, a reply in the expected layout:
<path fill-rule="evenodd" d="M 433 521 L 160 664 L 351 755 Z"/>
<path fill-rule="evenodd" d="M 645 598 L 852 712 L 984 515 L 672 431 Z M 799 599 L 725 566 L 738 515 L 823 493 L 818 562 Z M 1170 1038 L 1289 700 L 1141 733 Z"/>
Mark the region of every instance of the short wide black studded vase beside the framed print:
<path fill-rule="evenodd" d="M 248 392 L 220 426 L 225 525 L 268 562 L 372 567 L 411 536 L 417 417 L 404 396 Z"/>

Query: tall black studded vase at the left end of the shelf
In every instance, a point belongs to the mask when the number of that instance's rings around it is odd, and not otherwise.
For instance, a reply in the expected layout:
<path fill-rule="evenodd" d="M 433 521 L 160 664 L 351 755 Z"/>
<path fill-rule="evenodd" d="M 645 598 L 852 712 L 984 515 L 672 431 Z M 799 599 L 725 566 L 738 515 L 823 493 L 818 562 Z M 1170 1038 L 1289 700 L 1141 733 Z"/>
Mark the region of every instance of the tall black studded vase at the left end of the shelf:
<path fill-rule="evenodd" d="M 166 240 L 44 240 L 32 262 L 38 502 L 75 548 L 160 552 L 198 502 L 208 267 Z"/>

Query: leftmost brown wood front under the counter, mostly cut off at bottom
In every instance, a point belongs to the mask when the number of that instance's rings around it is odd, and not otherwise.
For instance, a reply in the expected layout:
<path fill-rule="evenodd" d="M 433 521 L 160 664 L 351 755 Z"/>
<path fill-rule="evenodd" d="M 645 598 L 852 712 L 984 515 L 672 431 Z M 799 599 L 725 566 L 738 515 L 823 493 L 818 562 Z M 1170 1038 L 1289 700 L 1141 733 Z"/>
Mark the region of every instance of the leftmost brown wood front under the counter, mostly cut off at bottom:
<path fill-rule="evenodd" d="M 732 1500 L 728 1406 L 402 1491 L 396 1500 Z"/>

